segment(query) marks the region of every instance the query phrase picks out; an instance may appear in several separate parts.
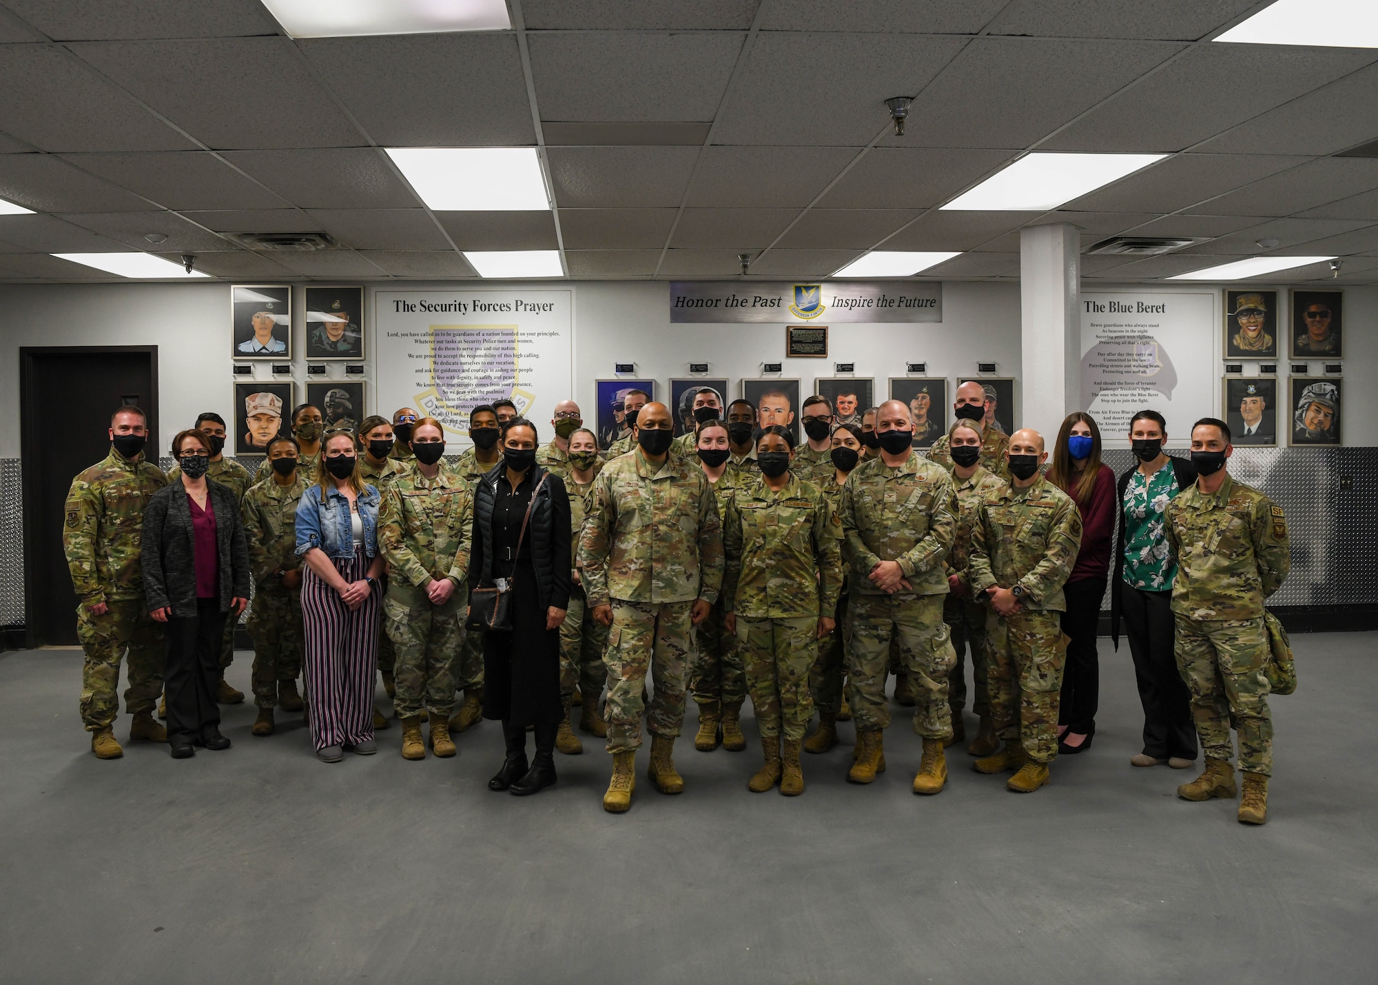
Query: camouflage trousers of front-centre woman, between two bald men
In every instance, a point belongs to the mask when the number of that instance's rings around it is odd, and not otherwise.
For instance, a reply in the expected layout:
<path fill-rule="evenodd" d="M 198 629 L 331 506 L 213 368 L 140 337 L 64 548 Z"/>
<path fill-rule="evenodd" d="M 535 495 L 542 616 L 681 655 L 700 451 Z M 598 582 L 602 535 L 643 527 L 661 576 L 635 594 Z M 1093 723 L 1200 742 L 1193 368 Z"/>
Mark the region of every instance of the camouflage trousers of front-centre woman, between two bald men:
<path fill-rule="evenodd" d="M 813 717 L 809 669 L 817 653 L 817 618 L 748 619 L 737 617 L 737 653 L 763 737 L 802 739 Z"/>

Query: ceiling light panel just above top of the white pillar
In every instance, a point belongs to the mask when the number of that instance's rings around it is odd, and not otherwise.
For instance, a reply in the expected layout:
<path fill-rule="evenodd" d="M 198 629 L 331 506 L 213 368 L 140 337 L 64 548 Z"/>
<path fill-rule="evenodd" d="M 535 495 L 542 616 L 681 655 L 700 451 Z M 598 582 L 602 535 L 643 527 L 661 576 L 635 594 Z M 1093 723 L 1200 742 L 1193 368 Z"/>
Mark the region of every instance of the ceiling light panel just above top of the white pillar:
<path fill-rule="evenodd" d="M 943 208 L 1046 212 L 1164 157 L 1167 155 L 1025 155 Z"/>

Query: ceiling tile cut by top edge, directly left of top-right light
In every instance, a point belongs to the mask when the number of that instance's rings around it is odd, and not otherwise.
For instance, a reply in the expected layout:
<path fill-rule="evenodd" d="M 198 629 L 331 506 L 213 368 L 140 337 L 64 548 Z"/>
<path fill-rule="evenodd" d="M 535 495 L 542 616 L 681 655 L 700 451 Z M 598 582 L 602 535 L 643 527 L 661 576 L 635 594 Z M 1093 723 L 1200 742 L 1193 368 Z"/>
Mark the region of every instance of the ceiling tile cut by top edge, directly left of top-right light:
<path fill-rule="evenodd" d="M 1014 0 L 991 25 L 992 34 L 1133 37 L 1195 41 L 1258 0 Z"/>

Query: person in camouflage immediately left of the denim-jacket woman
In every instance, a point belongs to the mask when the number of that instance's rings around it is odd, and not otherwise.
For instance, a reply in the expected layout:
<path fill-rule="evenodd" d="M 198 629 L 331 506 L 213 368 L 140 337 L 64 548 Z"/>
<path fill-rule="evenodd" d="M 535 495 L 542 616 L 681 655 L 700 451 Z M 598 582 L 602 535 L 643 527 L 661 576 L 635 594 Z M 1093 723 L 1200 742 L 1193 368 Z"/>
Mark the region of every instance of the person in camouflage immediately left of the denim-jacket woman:
<path fill-rule="evenodd" d="M 273 709 L 302 710 L 296 679 L 302 673 L 302 559 L 296 553 L 296 505 L 307 490 L 296 464 L 296 440 L 274 437 L 269 462 L 291 464 L 288 472 L 252 486 L 240 504 L 254 574 L 249 636 L 254 639 L 255 735 L 271 735 Z M 282 468 L 287 468 L 284 465 Z"/>

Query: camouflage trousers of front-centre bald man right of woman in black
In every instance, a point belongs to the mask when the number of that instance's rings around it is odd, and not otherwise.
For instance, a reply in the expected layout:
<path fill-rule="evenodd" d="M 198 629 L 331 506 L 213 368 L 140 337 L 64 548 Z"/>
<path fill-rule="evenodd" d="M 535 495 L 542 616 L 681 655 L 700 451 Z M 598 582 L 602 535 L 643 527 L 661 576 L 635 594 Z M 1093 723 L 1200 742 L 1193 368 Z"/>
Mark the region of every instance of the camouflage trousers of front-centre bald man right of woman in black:
<path fill-rule="evenodd" d="M 608 752 L 641 748 L 641 716 L 653 735 L 674 738 L 685 720 L 689 681 L 692 601 L 612 600 L 608 633 Z M 653 675 L 650 706 L 641 699 L 646 675 Z"/>

